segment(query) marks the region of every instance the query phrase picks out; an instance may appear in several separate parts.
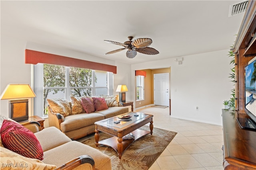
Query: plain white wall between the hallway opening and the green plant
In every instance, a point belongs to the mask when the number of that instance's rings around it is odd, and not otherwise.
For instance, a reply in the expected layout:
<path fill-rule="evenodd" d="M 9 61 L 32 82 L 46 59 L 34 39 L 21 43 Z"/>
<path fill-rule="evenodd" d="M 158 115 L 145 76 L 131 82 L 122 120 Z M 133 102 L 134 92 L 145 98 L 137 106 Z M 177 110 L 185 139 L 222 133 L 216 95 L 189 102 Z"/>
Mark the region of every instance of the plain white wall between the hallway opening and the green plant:
<path fill-rule="evenodd" d="M 171 117 L 222 125 L 222 103 L 234 88 L 228 78 L 232 68 L 228 51 L 184 56 L 181 65 L 174 59 L 133 64 L 131 72 L 171 67 Z"/>

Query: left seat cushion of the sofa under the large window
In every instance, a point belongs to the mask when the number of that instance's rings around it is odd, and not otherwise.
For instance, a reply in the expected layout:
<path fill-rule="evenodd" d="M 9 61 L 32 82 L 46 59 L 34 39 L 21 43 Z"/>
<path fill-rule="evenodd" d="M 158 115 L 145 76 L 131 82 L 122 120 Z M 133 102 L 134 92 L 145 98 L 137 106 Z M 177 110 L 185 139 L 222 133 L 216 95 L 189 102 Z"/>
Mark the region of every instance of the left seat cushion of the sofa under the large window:
<path fill-rule="evenodd" d="M 104 115 L 99 113 L 80 113 L 65 117 L 65 121 L 60 123 L 60 130 L 63 132 L 72 131 L 88 125 L 93 125 L 94 122 L 104 119 Z"/>

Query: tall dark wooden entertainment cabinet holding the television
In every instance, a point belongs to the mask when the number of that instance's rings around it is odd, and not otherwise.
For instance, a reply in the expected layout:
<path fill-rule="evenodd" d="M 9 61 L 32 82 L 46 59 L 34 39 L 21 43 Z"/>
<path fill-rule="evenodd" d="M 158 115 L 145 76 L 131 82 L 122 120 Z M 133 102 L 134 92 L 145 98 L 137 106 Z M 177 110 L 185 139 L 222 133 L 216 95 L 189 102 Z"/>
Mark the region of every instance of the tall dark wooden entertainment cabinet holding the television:
<path fill-rule="evenodd" d="M 237 117 L 247 118 L 245 111 L 244 67 L 256 56 L 256 1 L 249 1 L 234 48 L 235 53 L 235 107 L 222 109 L 223 167 L 225 170 L 256 169 L 256 131 L 241 129 Z"/>

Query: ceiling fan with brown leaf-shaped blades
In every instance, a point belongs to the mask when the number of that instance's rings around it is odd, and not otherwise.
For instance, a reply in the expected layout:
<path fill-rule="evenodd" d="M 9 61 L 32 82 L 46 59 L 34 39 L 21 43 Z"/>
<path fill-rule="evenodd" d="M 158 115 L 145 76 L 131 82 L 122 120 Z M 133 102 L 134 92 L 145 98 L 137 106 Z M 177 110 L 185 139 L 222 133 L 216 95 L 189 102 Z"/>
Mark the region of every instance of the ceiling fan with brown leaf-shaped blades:
<path fill-rule="evenodd" d="M 132 41 L 133 37 L 129 36 L 128 39 L 129 39 L 129 41 L 125 41 L 124 43 L 118 43 L 118 42 L 114 42 L 114 41 L 104 40 L 107 43 L 122 45 L 124 47 L 122 49 L 110 51 L 110 52 L 106 53 L 105 55 L 117 53 L 117 52 L 123 51 L 125 49 L 128 49 L 128 51 L 126 52 L 126 57 L 128 57 L 130 59 L 134 58 L 137 55 L 137 51 L 139 53 L 143 53 L 143 54 L 147 54 L 147 55 L 159 54 L 159 52 L 156 49 L 147 47 L 150 44 L 152 44 L 152 39 L 150 39 L 150 38 L 137 38 Z"/>

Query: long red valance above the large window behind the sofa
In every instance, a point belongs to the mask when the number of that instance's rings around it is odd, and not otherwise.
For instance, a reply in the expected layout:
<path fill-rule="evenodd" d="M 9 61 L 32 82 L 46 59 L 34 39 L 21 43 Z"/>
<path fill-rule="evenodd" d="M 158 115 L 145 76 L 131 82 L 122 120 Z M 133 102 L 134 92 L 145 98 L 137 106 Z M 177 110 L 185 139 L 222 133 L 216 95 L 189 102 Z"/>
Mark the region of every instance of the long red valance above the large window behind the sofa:
<path fill-rule="evenodd" d="M 85 61 L 80 59 L 74 59 L 70 57 L 64 57 L 61 55 L 54 55 L 49 53 L 43 53 L 39 51 L 25 50 L 25 63 L 26 64 L 55 64 L 62 66 L 72 66 L 78 68 L 87 68 L 92 70 L 108 71 L 116 74 L 116 66 L 95 63 L 92 61 Z"/>

